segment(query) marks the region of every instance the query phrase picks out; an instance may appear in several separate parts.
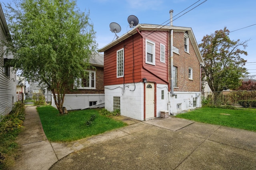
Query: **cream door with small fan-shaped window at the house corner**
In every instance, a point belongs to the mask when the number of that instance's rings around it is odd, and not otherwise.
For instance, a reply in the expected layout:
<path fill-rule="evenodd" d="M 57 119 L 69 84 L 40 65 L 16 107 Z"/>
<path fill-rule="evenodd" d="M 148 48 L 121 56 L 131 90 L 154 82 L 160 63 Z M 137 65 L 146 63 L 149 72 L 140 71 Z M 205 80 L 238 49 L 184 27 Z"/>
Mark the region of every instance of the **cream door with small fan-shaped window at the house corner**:
<path fill-rule="evenodd" d="M 155 101 L 154 101 L 154 83 L 146 83 L 146 117 L 150 119 L 155 117 Z"/>

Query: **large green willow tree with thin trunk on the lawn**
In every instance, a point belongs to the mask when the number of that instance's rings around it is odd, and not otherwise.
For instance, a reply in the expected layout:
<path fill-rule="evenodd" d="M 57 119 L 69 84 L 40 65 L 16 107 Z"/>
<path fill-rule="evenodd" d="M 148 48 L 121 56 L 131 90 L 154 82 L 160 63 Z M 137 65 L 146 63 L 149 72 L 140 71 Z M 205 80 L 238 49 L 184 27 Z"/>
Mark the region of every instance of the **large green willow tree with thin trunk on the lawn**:
<path fill-rule="evenodd" d="M 14 54 L 13 66 L 22 76 L 45 84 L 63 114 L 64 97 L 75 78 L 84 76 L 97 44 L 89 12 L 76 0 L 20 0 L 7 4 L 6 19 Z"/>

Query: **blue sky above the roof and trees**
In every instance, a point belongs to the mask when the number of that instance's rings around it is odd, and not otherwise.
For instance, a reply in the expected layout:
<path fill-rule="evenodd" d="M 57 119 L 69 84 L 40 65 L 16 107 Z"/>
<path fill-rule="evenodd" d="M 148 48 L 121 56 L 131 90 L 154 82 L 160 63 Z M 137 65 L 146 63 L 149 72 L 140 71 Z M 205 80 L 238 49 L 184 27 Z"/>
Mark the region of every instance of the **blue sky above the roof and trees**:
<path fill-rule="evenodd" d="M 98 48 L 102 48 L 114 39 L 114 33 L 110 31 L 109 24 L 116 22 L 121 26 L 118 36 L 130 30 L 127 18 L 135 15 L 139 23 L 168 24 L 170 10 L 174 10 L 173 16 L 182 12 L 198 0 L 77 0 L 80 10 L 90 11 L 90 19 L 96 31 Z M 1 2 L 10 2 L 2 0 Z M 201 43 L 204 35 L 214 33 L 225 26 L 231 32 L 232 40 L 240 39 L 248 42 L 245 51 L 247 56 L 246 68 L 251 75 L 256 75 L 256 13 L 255 0 L 200 0 L 178 16 L 174 17 L 173 25 L 191 27 L 196 41 Z M 199 5 L 198 7 L 196 7 Z M 194 8 L 196 7 L 196 8 Z M 193 10 L 191 10 L 194 8 Z M 188 12 L 191 10 L 190 12 Z M 188 12 L 184 14 L 185 12 Z M 184 14 L 183 16 L 181 16 Z M 179 17 L 180 16 L 180 17 Z M 179 17 L 179 18 L 178 18 Z M 177 18 L 177 19 L 176 19 Z M 167 22 L 166 22 L 167 21 Z M 250 26 L 253 25 L 253 26 Z M 250 26 L 250 27 L 247 27 Z M 241 29 L 243 27 L 247 27 Z M 237 30 L 240 29 L 240 30 Z M 237 30 L 237 31 L 235 31 Z M 255 62 L 255 63 L 254 63 Z M 255 69 L 255 70 L 254 70 Z"/>

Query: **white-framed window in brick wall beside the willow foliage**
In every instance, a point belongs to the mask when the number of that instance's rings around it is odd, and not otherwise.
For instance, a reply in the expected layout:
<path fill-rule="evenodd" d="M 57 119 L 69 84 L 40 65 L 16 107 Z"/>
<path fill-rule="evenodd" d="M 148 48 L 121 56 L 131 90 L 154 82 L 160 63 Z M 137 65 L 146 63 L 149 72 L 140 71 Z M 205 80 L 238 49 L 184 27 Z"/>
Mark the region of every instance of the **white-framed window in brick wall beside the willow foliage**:
<path fill-rule="evenodd" d="M 74 88 L 77 89 L 96 89 L 96 72 L 86 71 L 84 78 L 76 78 Z"/>

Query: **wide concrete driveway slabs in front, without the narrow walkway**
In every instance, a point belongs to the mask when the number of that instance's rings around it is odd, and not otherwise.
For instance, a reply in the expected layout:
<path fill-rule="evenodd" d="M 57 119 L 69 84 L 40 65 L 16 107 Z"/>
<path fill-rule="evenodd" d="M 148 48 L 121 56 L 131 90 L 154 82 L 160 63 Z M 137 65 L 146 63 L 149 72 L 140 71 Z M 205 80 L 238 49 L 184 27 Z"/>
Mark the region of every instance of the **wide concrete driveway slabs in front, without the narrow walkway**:
<path fill-rule="evenodd" d="M 50 170 L 256 170 L 256 133 L 250 131 L 169 117 L 100 136 L 108 140 Z"/>

